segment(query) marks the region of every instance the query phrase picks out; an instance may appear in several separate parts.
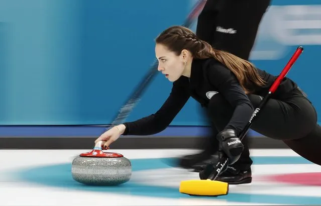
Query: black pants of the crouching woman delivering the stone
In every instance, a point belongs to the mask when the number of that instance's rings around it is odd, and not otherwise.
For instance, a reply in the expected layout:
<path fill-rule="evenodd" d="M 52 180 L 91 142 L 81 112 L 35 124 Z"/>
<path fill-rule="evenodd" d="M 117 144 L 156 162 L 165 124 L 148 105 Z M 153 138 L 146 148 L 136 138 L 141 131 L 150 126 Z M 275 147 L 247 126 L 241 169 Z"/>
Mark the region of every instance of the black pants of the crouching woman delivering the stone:
<path fill-rule="evenodd" d="M 254 94 L 248 96 L 253 107 L 257 108 L 261 97 Z M 222 131 L 230 121 L 234 109 L 218 93 L 210 99 L 207 112 L 216 129 Z M 321 127 L 316 121 L 316 111 L 311 102 L 299 89 L 295 89 L 286 99 L 269 99 L 251 129 L 266 137 L 283 141 L 300 156 L 321 165 Z M 239 169 L 246 169 L 251 164 L 246 148 L 234 165 Z"/>

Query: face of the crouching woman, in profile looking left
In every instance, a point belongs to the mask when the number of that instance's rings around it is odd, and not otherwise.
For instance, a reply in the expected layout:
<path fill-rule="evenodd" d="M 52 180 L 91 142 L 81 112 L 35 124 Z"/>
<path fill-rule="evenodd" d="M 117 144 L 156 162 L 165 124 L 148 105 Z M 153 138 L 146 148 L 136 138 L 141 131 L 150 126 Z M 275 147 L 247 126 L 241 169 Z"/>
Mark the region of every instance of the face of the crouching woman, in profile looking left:
<path fill-rule="evenodd" d="M 156 44 L 155 54 L 158 59 L 158 71 L 162 72 L 169 81 L 176 81 L 183 73 L 186 65 L 184 55 L 177 56 L 164 45 Z"/>

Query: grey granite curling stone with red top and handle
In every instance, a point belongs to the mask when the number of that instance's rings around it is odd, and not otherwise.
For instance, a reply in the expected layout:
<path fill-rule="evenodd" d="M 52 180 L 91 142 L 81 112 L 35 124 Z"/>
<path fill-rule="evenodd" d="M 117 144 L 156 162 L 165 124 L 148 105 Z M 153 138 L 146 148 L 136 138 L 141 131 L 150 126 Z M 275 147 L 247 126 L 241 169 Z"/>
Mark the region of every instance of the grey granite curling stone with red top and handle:
<path fill-rule="evenodd" d="M 99 145 L 99 146 L 98 146 Z M 103 152 L 99 142 L 91 152 L 72 161 L 72 178 L 87 185 L 115 186 L 126 183 L 132 175 L 132 164 L 122 154 Z"/>

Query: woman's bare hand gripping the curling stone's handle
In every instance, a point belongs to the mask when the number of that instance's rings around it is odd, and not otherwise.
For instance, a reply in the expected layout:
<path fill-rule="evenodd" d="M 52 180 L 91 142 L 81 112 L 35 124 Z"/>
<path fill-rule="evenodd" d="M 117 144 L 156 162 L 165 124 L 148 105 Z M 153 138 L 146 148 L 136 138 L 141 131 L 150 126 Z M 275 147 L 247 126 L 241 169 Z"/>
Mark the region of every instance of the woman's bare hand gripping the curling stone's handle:
<path fill-rule="evenodd" d="M 95 140 L 95 145 L 97 144 L 97 142 L 101 141 L 100 146 L 102 147 L 102 149 L 109 149 L 109 146 L 113 142 L 115 142 L 121 136 L 121 134 L 124 133 L 125 129 L 126 129 L 125 125 L 118 125 L 109 129 L 108 131 L 101 134 L 100 137 L 98 137 Z"/>

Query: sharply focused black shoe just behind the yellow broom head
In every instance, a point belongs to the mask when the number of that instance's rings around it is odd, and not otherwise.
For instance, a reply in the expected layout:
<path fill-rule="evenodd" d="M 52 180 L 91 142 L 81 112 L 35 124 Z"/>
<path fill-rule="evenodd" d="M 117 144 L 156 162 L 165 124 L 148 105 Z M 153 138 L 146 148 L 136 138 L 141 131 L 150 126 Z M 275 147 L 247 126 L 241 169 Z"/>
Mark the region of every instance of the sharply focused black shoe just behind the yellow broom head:
<path fill-rule="evenodd" d="M 227 182 L 229 184 L 246 184 L 252 182 L 252 170 L 251 168 L 246 171 L 241 171 L 233 167 L 228 166 L 227 170 L 220 174 L 216 179 L 218 181 Z"/>

